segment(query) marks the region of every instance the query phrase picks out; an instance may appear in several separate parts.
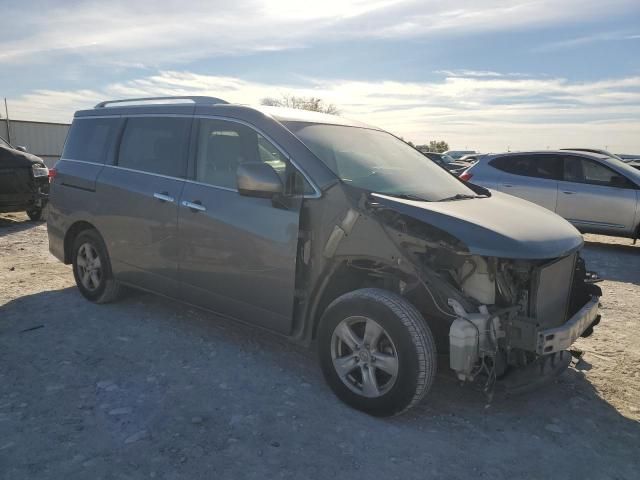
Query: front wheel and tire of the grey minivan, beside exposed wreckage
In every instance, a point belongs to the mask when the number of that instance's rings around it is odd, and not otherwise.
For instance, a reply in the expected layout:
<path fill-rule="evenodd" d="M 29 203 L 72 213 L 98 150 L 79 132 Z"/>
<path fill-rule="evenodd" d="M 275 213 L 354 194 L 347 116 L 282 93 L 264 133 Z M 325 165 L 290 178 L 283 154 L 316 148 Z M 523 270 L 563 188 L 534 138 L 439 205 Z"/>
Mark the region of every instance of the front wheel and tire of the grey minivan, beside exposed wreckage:
<path fill-rule="evenodd" d="M 342 401 L 374 416 L 422 400 L 436 374 L 436 347 L 420 312 L 395 293 L 364 288 L 324 312 L 318 332 L 324 377 Z"/>

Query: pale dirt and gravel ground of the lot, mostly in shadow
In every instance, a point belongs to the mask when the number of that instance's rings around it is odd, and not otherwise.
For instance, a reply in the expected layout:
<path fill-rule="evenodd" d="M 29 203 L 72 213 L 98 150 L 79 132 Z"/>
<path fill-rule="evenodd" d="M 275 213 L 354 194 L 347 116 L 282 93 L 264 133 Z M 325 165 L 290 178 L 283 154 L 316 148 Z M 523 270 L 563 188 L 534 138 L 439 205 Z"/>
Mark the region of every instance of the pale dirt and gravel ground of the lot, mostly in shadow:
<path fill-rule="evenodd" d="M 640 246 L 587 236 L 603 321 L 544 391 L 461 388 L 446 365 L 409 414 L 375 419 L 313 352 L 152 295 L 96 306 L 0 216 L 0 478 L 640 478 Z"/>

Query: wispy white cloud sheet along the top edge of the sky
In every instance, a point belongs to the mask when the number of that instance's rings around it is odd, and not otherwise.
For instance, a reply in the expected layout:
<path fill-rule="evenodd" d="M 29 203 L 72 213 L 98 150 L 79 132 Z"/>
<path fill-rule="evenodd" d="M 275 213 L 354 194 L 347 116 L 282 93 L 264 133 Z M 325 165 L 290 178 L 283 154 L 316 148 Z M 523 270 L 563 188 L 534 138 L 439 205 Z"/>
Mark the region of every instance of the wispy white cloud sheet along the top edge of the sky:
<path fill-rule="evenodd" d="M 521 30 L 601 18 L 637 0 L 23 0 L 3 6 L 0 64 L 70 55 L 162 68 L 327 41 Z M 606 3 L 606 5 L 605 5 Z"/>

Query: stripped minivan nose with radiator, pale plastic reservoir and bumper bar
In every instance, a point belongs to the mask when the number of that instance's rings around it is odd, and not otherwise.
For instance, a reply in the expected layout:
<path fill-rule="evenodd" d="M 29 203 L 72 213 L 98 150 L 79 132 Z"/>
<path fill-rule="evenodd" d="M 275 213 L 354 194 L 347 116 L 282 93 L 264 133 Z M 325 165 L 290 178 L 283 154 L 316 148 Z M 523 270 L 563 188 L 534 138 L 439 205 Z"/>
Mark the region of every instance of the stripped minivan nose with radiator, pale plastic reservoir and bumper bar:
<path fill-rule="evenodd" d="M 577 253 L 551 261 L 471 256 L 467 262 L 480 265 L 470 267 L 478 273 L 458 285 L 478 302 L 476 308 L 467 311 L 449 299 L 456 314 L 449 331 L 450 367 L 460 380 L 484 377 L 490 386 L 503 377 L 515 390 L 560 373 L 571 358 L 566 350 L 600 321 L 600 288 L 587 282 L 592 275 Z M 509 378 L 515 369 L 526 369 L 533 377 L 519 372 Z"/>

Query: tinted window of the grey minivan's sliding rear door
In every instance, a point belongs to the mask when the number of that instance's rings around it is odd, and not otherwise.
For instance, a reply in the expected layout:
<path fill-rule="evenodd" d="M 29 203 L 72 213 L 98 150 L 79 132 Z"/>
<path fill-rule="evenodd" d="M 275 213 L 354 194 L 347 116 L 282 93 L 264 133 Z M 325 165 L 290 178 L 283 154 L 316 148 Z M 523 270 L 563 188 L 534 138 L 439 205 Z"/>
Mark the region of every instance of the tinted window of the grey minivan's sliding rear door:
<path fill-rule="evenodd" d="M 129 118 L 122 134 L 118 166 L 184 178 L 191 119 Z"/>

